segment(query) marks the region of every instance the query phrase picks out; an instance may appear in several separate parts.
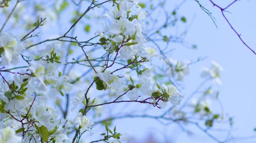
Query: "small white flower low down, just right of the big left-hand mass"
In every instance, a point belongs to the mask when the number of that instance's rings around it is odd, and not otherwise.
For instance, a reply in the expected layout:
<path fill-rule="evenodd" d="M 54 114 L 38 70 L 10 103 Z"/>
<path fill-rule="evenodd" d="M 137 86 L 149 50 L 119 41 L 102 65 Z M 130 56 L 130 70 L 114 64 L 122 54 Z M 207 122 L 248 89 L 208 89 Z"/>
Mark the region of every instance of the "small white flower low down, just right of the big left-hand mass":
<path fill-rule="evenodd" d="M 91 120 L 88 120 L 80 112 L 77 114 L 76 118 L 74 118 L 74 124 L 76 125 L 76 128 L 80 127 L 81 131 L 91 131 L 91 127 L 94 125 Z"/>

